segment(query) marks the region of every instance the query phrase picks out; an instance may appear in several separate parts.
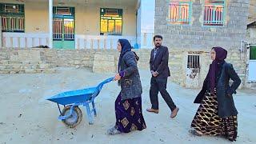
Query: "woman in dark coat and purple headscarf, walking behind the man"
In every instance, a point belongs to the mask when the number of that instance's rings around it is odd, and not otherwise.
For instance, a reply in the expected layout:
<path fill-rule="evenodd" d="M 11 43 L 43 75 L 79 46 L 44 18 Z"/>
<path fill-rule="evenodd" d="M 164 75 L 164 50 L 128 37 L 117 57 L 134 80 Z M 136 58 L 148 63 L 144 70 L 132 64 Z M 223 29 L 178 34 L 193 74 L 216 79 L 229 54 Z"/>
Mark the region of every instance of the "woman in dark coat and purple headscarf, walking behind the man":
<path fill-rule="evenodd" d="M 190 133 L 201 136 L 223 135 L 235 141 L 238 134 L 238 110 L 233 94 L 241 83 L 232 64 L 225 62 L 227 51 L 222 47 L 211 50 L 213 62 L 194 103 L 200 103 L 191 123 Z M 233 83 L 230 86 L 230 78 Z"/>

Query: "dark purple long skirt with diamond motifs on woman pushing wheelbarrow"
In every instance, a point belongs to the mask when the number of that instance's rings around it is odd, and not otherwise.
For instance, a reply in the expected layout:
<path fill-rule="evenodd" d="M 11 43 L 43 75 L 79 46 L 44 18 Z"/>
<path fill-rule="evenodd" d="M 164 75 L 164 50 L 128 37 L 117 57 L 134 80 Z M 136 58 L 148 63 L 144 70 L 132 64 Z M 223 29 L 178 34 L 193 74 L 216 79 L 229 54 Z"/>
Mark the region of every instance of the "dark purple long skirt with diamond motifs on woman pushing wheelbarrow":
<path fill-rule="evenodd" d="M 142 98 L 122 100 L 121 94 L 115 100 L 116 126 L 122 133 L 146 129 L 142 115 Z"/>

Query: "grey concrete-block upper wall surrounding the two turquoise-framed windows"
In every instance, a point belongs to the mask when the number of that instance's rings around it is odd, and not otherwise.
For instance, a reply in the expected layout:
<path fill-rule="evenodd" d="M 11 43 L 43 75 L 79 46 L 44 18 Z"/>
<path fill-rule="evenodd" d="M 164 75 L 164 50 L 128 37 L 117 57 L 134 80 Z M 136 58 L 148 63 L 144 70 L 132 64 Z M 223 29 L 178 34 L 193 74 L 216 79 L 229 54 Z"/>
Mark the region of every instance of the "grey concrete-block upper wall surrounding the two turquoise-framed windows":
<path fill-rule="evenodd" d="M 240 41 L 246 38 L 249 0 L 226 0 L 223 27 L 203 26 L 205 1 L 190 2 L 192 2 L 191 24 L 183 26 L 171 24 L 166 20 L 170 0 L 156 0 L 155 34 L 163 36 L 164 45 L 186 50 L 209 50 L 213 46 L 222 46 L 226 49 L 240 47 Z"/>

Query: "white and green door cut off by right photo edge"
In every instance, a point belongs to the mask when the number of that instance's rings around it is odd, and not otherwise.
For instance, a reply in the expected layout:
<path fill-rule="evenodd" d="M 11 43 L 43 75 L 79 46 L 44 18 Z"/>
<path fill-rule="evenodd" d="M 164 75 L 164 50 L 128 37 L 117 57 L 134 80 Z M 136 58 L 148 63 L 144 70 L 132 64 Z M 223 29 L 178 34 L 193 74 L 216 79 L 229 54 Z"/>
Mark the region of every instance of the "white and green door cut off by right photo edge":
<path fill-rule="evenodd" d="M 256 46 L 250 46 L 249 76 L 250 82 L 256 82 Z"/>

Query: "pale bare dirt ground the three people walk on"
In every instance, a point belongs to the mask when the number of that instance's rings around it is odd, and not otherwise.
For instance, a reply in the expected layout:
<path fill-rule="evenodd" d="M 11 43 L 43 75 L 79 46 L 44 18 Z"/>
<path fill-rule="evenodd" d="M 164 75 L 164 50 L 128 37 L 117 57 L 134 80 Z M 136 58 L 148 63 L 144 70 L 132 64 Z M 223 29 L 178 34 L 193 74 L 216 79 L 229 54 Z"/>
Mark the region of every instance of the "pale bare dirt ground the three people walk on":
<path fill-rule="evenodd" d="M 98 116 L 89 125 L 85 109 L 75 129 L 58 121 L 56 103 L 46 98 L 66 90 L 95 86 L 114 74 L 94 74 L 91 70 L 59 68 L 56 74 L 0 75 L 0 144 L 9 143 L 230 143 L 221 137 L 195 137 L 188 133 L 198 105 L 194 98 L 199 90 L 189 90 L 169 80 L 167 90 L 180 108 L 170 119 L 170 109 L 159 96 L 160 113 L 150 114 L 150 72 L 140 70 L 143 94 L 142 108 L 146 130 L 110 136 L 106 130 L 114 125 L 114 101 L 120 88 L 117 82 L 106 84 L 96 98 Z M 238 140 L 235 143 L 256 143 L 256 91 L 238 90 L 234 95 L 238 109 Z"/>

